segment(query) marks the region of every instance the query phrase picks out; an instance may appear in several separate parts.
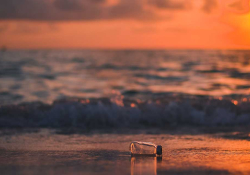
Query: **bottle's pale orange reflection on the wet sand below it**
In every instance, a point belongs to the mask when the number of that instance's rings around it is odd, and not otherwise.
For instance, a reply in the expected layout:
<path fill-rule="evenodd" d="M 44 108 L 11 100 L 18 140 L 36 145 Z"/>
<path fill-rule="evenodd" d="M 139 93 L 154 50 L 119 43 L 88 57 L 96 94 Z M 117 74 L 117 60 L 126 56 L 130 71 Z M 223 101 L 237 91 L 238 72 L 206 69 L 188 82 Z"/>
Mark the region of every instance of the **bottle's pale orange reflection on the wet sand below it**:
<path fill-rule="evenodd" d="M 157 164 L 162 157 L 132 156 L 131 175 L 157 175 Z"/>

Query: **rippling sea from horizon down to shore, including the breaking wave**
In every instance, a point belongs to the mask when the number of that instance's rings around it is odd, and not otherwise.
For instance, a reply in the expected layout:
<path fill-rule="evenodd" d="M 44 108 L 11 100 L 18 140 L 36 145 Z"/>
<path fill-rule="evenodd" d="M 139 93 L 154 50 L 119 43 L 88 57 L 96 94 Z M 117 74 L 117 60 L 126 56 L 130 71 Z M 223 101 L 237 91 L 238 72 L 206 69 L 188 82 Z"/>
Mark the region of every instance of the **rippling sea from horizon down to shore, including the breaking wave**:
<path fill-rule="evenodd" d="M 0 52 L 0 127 L 250 124 L 250 51 Z"/>

